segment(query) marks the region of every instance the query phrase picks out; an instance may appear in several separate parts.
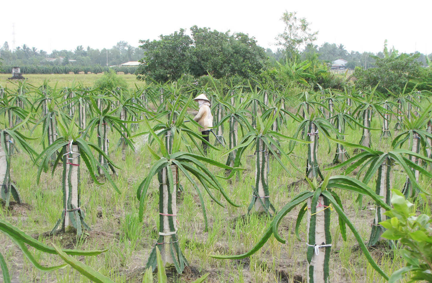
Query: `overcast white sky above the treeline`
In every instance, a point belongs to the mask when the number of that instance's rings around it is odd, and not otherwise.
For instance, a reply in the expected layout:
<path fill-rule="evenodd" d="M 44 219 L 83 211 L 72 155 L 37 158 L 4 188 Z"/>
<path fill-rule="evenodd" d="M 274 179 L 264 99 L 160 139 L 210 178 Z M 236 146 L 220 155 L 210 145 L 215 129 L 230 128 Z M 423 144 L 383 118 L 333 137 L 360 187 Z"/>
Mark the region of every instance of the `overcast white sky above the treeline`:
<path fill-rule="evenodd" d="M 383 49 L 384 39 L 400 52 L 432 52 L 431 0 L 411 1 L 94 1 L 3 0 L 0 45 L 27 44 L 50 52 L 77 45 L 111 48 L 118 41 L 137 47 L 140 39 L 156 39 L 192 25 L 218 31 L 244 32 L 273 50 L 283 32 L 285 10 L 311 22 L 317 45 L 342 43 L 346 50 Z"/>

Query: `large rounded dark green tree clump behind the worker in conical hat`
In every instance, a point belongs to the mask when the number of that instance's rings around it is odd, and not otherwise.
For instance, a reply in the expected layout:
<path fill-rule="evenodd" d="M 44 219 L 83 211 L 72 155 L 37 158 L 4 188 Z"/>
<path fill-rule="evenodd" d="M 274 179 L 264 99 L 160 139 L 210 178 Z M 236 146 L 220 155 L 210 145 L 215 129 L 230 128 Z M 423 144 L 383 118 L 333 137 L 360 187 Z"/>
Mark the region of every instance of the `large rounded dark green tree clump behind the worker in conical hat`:
<path fill-rule="evenodd" d="M 250 78 L 265 67 L 264 48 L 253 37 L 238 32 L 218 32 L 210 28 L 191 27 L 191 36 L 184 29 L 159 40 L 140 41 L 144 57 L 138 79 L 165 82 L 184 73 L 195 77 L 211 74 L 217 79 L 227 75 Z"/>

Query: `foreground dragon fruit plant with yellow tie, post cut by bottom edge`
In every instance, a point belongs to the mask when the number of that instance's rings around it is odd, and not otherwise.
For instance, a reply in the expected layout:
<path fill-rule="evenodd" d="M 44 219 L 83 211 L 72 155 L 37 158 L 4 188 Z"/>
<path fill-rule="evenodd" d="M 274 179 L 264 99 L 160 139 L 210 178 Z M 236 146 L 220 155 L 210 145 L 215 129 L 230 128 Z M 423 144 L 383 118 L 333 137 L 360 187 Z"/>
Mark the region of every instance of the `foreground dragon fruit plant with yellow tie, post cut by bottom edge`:
<path fill-rule="evenodd" d="M 369 196 L 387 210 L 390 210 L 391 207 L 382 201 L 367 185 L 352 177 L 342 175 L 330 177 L 330 174 L 328 174 L 320 184 L 318 184 L 316 179 L 310 181 L 306 178 L 306 180 L 308 180 L 310 190 L 297 194 L 276 214 L 273 221 L 267 226 L 263 237 L 250 251 L 238 255 L 210 256 L 218 259 L 247 258 L 258 251 L 272 235 L 276 240 L 285 244 L 285 239 L 279 235 L 280 222 L 293 208 L 300 206 L 299 215 L 295 221 L 295 235 L 300 241 L 302 240 L 299 236 L 299 226 L 306 214 L 308 223 L 306 230 L 306 255 L 309 263 L 306 272 L 306 282 L 331 282 L 329 278 L 329 260 L 332 245 L 330 234 L 330 213 L 332 211 L 337 213 L 339 229 L 343 240 L 346 241 L 346 226 L 348 226 L 351 232 L 353 232 L 369 264 L 371 264 L 385 280 L 388 280 L 387 274 L 375 263 L 366 245 L 363 243 L 362 236 L 357 232 L 353 223 L 344 212 L 340 197 L 334 189 L 341 189 Z"/>

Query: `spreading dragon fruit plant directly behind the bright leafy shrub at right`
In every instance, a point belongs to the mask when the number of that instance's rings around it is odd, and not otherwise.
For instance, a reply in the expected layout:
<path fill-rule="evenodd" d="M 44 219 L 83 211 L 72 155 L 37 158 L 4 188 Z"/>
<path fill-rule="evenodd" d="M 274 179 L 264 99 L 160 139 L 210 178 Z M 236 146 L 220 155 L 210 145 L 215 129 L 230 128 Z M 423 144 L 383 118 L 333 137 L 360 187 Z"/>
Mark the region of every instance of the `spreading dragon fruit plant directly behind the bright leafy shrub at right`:
<path fill-rule="evenodd" d="M 390 151 L 383 152 L 370 149 L 366 146 L 348 143 L 346 141 L 335 140 L 332 138 L 330 139 L 335 142 L 342 143 L 344 146 L 362 149 L 362 152 L 329 169 L 339 169 L 343 168 L 344 166 L 348 166 L 344 171 L 345 175 L 348 175 L 354 170 L 359 169 L 356 178 L 360 179 L 362 174 L 365 173 L 362 178 L 362 183 L 364 184 L 368 184 L 372 177 L 375 176 L 375 173 L 377 173 L 375 194 L 382 197 L 382 200 L 388 206 L 390 206 L 391 190 L 393 188 L 393 171 L 396 165 L 400 165 L 403 168 L 404 172 L 407 173 L 407 178 L 418 188 L 420 188 L 420 186 L 416 181 L 416 176 L 414 175 L 413 170 L 417 169 L 429 178 L 432 178 L 432 174 L 427 172 L 421 166 L 412 162 L 410 160 L 410 156 L 415 156 L 416 159 L 421 159 L 426 162 L 431 162 L 432 159 L 422 156 L 419 153 L 413 153 L 407 149 L 398 149 L 397 143 L 392 143 L 394 147 Z M 397 141 L 396 138 L 394 141 Z M 360 197 L 362 197 L 362 195 L 359 195 L 359 198 Z M 375 218 L 371 226 L 372 230 L 368 245 L 375 245 L 378 241 L 383 240 L 381 235 L 385 229 L 379 223 L 386 219 L 386 216 L 384 216 L 385 211 L 386 209 L 381 207 L 379 203 L 375 204 Z"/>

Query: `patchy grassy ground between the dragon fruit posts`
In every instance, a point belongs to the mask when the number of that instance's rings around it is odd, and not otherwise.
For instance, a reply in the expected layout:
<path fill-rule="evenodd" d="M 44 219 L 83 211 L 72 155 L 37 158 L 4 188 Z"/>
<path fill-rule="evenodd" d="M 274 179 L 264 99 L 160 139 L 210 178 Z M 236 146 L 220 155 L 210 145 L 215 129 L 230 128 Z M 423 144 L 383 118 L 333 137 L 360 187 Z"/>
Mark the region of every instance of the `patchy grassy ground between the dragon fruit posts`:
<path fill-rule="evenodd" d="M 393 126 L 394 121 L 391 123 L 391 129 Z M 296 127 L 297 123 L 289 120 L 284 125 L 282 133 L 292 135 Z M 373 121 L 372 127 L 380 127 L 377 118 Z M 144 127 L 141 123 L 140 131 L 143 130 Z M 40 129 L 38 129 L 33 136 L 40 136 L 40 134 Z M 361 134 L 359 129 L 350 129 L 347 131 L 346 140 L 357 143 Z M 373 147 L 382 150 L 388 149 L 389 140 L 380 141 L 379 136 L 379 131 L 372 133 Z M 95 138 L 93 135 L 94 141 Z M 0 218 L 10 221 L 13 225 L 48 245 L 55 243 L 64 248 L 109 249 L 96 257 L 79 257 L 79 259 L 95 270 L 111 277 L 115 282 L 135 283 L 141 282 L 149 252 L 157 239 L 158 181 L 156 177 L 153 179 L 153 184 L 146 198 L 144 221 L 140 223 L 137 214 L 136 189 L 140 181 L 146 177 L 154 160 L 151 159 L 145 147 L 142 147 L 137 153 L 127 150 L 123 158 L 121 150 L 116 148 L 118 138 L 118 134 L 113 134 L 110 137 L 110 153 L 115 163 L 122 168 L 118 172 L 118 177 L 115 178 L 121 194 L 117 194 L 108 184 L 95 184 L 87 174 L 85 167 L 82 166 L 81 207 L 86 212 L 86 222 L 92 227 L 91 231 L 78 238 L 65 234 L 46 235 L 46 232 L 50 231 L 57 222 L 62 210 L 62 169 L 57 169 L 53 177 L 50 173 L 42 173 L 41 181 L 37 184 L 35 181 L 36 168 L 29 158 L 22 153 L 13 156 L 12 176 L 27 204 L 15 205 L 11 210 L 0 209 Z M 211 141 L 214 142 L 214 138 Z M 39 143 L 40 140 L 33 142 L 33 145 L 40 152 L 42 147 Z M 283 143 L 282 145 L 287 149 L 287 144 Z M 220 149 L 219 151 L 210 150 L 209 156 L 225 162 L 226 156 L 222 156 L 223 149 Z M 347 150 L 352 156 L 353 150 Z M 181 178 L 184 192 L 178 194 L 178 235 L 180 247 L 191 266 L 185 268 L 185 272 L 179 276 L 173 274 L 175 271 L 168 269 L 168 278 L 171 282 L 191 282 L 206 272 L 211 273 L 208 282 L 285 283 L 298 282 L 296 280 L 302 281 L 308 263 L 304 241 L 305 219 L 300 229 L 303 240 L 298 241 L 294 234 L 295 217 L 299 213 L 299 208 L 287 214 L 280 225 L 280 234 L 286 238 L 286 244 L 281 244 L 274 238 L 270 238 L 264 247 L 250 258 L 243 260 L 210 258 L 211 254 L 244 253 L 257 243 L 263 235 L 266 225 L 271 221 L 267 216 L 247 213 L 247 206 L 252 195 L 251 184 L 254 183 L 255 158 L 253 151 L 250 149 L 249 153 L 246 154 L 250 156 L 242 160 L 242 166 L 246 170 L 241 174 L 238 181 L 230 183 L 221 180 L 222 186 L 232 200 L 244 205 L 244 207 L 234 208 L 228 205 L 225 208 L 220 207 L 210 197 L 204 196 L 209 219 L 208 232 L 203 232 L 204 224 L 199 198 L 194 188 L 185 181 L 185 178 Z M 321 137 L 318 153 L 321 169 L 327 168 L 327 165 L 332 162 L 334 151 L 334 144 L 332 144 L 330 153 L 328 153 L 327 143 L 324 137 Z M 293 154 L 293 160 L 300 169 L 304 169 L 306 163 L 305 153 L 307 153 L 306 146 L 297 146 Z M 289 172 L 285 172 L 276 160 L 270 160 L 268 177 L 270 200 L 276 210 L 283 207 L 293 195 L 308 189 L 308 185 L 304 182 L 299 182 L 294 187 L 289 186 L 293 181 L 302 179 L 304 172 L 298 172 L 289 166 L 286 160 L 284 162 Z M 214 168 L 212 171 L 219 175 L 223 174 Z M 337 175 L 340 172 L 334 171 L 332 174 Z M 405 175 L 394 172 L 394 188 L 401 189 L 404 182 Z M 423 184 L 424 188 L 430 189 L 429 181 L 421 180 L 420 184 Z M 375 188 L 375 181 L 371 181 L 369 186 Z M 346 214 L 362 235 L 364 242 L 367 242 L 374 218 L 375 204 L 364 197 L 364 207 L 359 207 L 355 203 L 356 195 L 345 191 L 338 191 L 338 193 Z M 221 201 L 223 200 L 221 194 L 215 192 L 215 195 Z M 226 203 L 226 201 L 222 202 Z M 421 207 L 422 212 L 430 214 L 429 204 L 424 204 Z M 362 251 L 359 251 L 352 233 L 348 232 L 347 242 L 343 242 L 338 230 L 335 212 L 332 213 L 331 217 L 332 226 L 330 229 L 333 246 L 330 256 L 330 282 L 385 282 L 369 266 Z M 51 273 L 39 272 L 23 258 L 21 251 L 4 235 L 0 235 L 0 251 L 9 264 L 13 282 L 90 282 L 70 267 Z M 375 261 L 387 273 L 392 273 L 403 265 L 397 251 L 384 248 L 382 245 L 371 248 L 371 253 Z M 36 252 L 36 258 L 48 265 L 61 263 L 57 256 L 39 252 Z"/>

